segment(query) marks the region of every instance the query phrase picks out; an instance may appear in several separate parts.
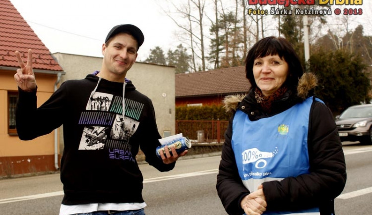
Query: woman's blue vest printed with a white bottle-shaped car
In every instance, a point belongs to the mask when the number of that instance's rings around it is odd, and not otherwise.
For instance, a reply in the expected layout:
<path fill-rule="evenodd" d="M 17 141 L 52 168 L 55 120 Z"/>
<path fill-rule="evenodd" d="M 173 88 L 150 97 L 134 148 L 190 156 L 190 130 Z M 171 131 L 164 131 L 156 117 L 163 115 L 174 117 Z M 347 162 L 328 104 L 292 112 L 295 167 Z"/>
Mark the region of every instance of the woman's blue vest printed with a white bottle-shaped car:
<path fill-rule="evenodd" d="M 233 120 L 232 148 L 243 184 L 250 192 L 265 181 L 309 173 L 308 131 L 313 98 L 276 115 L 256 121 L 237 110 Z M 294 212 L 266 212 L 264 215 Z M 319 214 L 311 209 L 303 214 Z"/>

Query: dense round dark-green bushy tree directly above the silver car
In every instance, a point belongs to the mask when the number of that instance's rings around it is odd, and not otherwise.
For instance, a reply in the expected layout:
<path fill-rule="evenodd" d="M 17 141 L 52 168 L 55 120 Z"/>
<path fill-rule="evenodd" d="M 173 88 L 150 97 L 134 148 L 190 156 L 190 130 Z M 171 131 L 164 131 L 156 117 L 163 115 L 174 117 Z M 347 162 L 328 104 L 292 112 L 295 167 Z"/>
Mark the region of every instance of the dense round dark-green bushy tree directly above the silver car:
<path fill-rule="evenodd" d="M 345 49 L 325 52 L 319 50 L 310 56 L 310 71 L 318 77 L 315 94 L 336 113 L 345 108 L 369 103 L 371 84 L 367 66 L 360 55 Z"/>

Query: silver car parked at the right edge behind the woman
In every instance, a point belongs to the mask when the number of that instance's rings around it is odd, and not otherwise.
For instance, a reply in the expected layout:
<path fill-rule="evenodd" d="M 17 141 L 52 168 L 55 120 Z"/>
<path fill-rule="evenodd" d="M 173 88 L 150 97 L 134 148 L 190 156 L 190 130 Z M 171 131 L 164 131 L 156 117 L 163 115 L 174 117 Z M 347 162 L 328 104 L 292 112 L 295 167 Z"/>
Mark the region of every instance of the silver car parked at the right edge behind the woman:
<path fill-rule="evenodd" d="M 359 141 L 372 144 L 372 104 L 348 107 L 336 116 L 341 141 Z"/>

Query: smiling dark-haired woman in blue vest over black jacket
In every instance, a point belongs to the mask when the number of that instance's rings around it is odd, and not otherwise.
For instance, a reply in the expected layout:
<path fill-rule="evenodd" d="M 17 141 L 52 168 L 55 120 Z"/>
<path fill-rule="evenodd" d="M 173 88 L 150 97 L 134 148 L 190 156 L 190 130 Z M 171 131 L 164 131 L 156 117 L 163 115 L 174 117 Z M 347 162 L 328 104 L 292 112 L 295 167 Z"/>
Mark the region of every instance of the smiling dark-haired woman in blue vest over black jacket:
<path fill-rule="evenodd" d="M 284 38 L 258 41 L 246 58 L 252 87 L 229 96 L 232 111 L 217 192 L 229 215 L 334 215 L 346 183 L 345 158 L 333 115 L 313 95 Z"/>

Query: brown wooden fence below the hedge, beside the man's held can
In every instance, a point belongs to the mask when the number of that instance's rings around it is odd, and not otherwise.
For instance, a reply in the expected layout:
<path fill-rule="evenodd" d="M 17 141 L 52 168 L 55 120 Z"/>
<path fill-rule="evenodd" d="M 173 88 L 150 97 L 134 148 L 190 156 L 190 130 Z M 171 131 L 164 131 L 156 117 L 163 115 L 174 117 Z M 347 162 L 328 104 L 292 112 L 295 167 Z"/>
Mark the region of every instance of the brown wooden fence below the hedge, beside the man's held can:
<path fill-rule="evenodd" d="M 192 143 L 223 143 L 229 121 L 176 120 L 176 134 L 183 133 Z"/>

